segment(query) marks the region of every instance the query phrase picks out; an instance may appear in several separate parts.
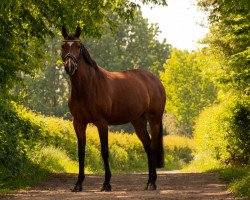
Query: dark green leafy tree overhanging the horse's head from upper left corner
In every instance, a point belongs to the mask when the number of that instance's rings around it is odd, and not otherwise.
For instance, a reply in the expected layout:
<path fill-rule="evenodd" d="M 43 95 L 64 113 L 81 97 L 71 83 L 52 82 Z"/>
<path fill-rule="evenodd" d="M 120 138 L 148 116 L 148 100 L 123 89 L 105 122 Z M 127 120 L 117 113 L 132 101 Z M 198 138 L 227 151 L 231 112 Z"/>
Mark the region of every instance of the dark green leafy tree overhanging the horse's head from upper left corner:
<path fill-rule="evenodd" d="M 143 3 L 166 5 L 162 0 L 143 0 Z M 37 58 L 43 54 L 40 46 L 52 27 L 62 25 L 75 28 L 80 24 L 83 35 L 100 36 L 104 22 L 113 27 L 110 13 L 130 21 L 138 7 L 128 0 L 9 0 L 0 5 L 0 94 L 22 80 L 23 74 L 32 74 L 38 67 Z M 30 48 L 33 50 L 30 51 Z"/>

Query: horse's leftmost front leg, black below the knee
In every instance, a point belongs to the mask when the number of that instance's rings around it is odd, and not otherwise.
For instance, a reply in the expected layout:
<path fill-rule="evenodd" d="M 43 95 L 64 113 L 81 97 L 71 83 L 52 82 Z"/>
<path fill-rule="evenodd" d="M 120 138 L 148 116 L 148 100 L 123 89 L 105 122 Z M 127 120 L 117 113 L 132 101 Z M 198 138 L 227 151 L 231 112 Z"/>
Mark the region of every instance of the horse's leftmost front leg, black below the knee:
<path fill-rule="evenodd" d="M 78 139 L 78 159 L 79 159 L 79 174 L 78 179 L 72 192 L 82 191 L 82 182 L 84 181 L 84 159 L 85 159 L 85 145 L 86 145 L 86 127 L 87 123 L 82 121 L 73 121 L 74 129 Z"/>

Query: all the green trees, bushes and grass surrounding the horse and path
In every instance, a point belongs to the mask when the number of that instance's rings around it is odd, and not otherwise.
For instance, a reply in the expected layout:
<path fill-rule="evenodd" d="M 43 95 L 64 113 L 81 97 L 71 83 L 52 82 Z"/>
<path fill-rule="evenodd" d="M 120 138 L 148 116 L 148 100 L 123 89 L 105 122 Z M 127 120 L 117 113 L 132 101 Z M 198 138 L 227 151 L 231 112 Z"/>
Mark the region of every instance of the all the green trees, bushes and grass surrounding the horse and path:
<path fill-rule="evenodd" d="M 161 79 L 167 93 L 164 169 L 218 172 L 229 190 L 250 198 L 250 1 L 198 0 L 210 31 L 204 47 L 191 52 L 158 41 L 158 25 L 148 24 L 136 3 L 93 2 L 76 0 L 73 10 L 70 1 L 0 5 L 0 192 L 30 187 L 50 172 L 78 170 L 59 52 L 64 24 L 83 27 L 82 40 L 100 66 L 141 68 Z M 147 171 L 131 126 L 110 130 L 112 172 Z M 86 172 L 103 173 L 91 125 Z"/>

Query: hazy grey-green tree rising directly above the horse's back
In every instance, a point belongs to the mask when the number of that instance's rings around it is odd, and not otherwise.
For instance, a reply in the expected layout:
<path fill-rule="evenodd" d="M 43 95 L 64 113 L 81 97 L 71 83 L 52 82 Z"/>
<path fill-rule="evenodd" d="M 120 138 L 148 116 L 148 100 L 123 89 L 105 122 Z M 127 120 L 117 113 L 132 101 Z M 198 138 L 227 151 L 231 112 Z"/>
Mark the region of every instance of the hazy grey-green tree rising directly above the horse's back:
<path fill-rule="evenodd" d="M 149 25 L 138 9 L 130 24 L 117 19 L 113 31 L 106 24 L 101 38 L 87 38 L 84 43 L 97 63 L 110 71 L 141 68 L 158 74 L 171 49 L 166 40 L 159 42 L 156 39 L 158 33 L 158 26 Z"/>

